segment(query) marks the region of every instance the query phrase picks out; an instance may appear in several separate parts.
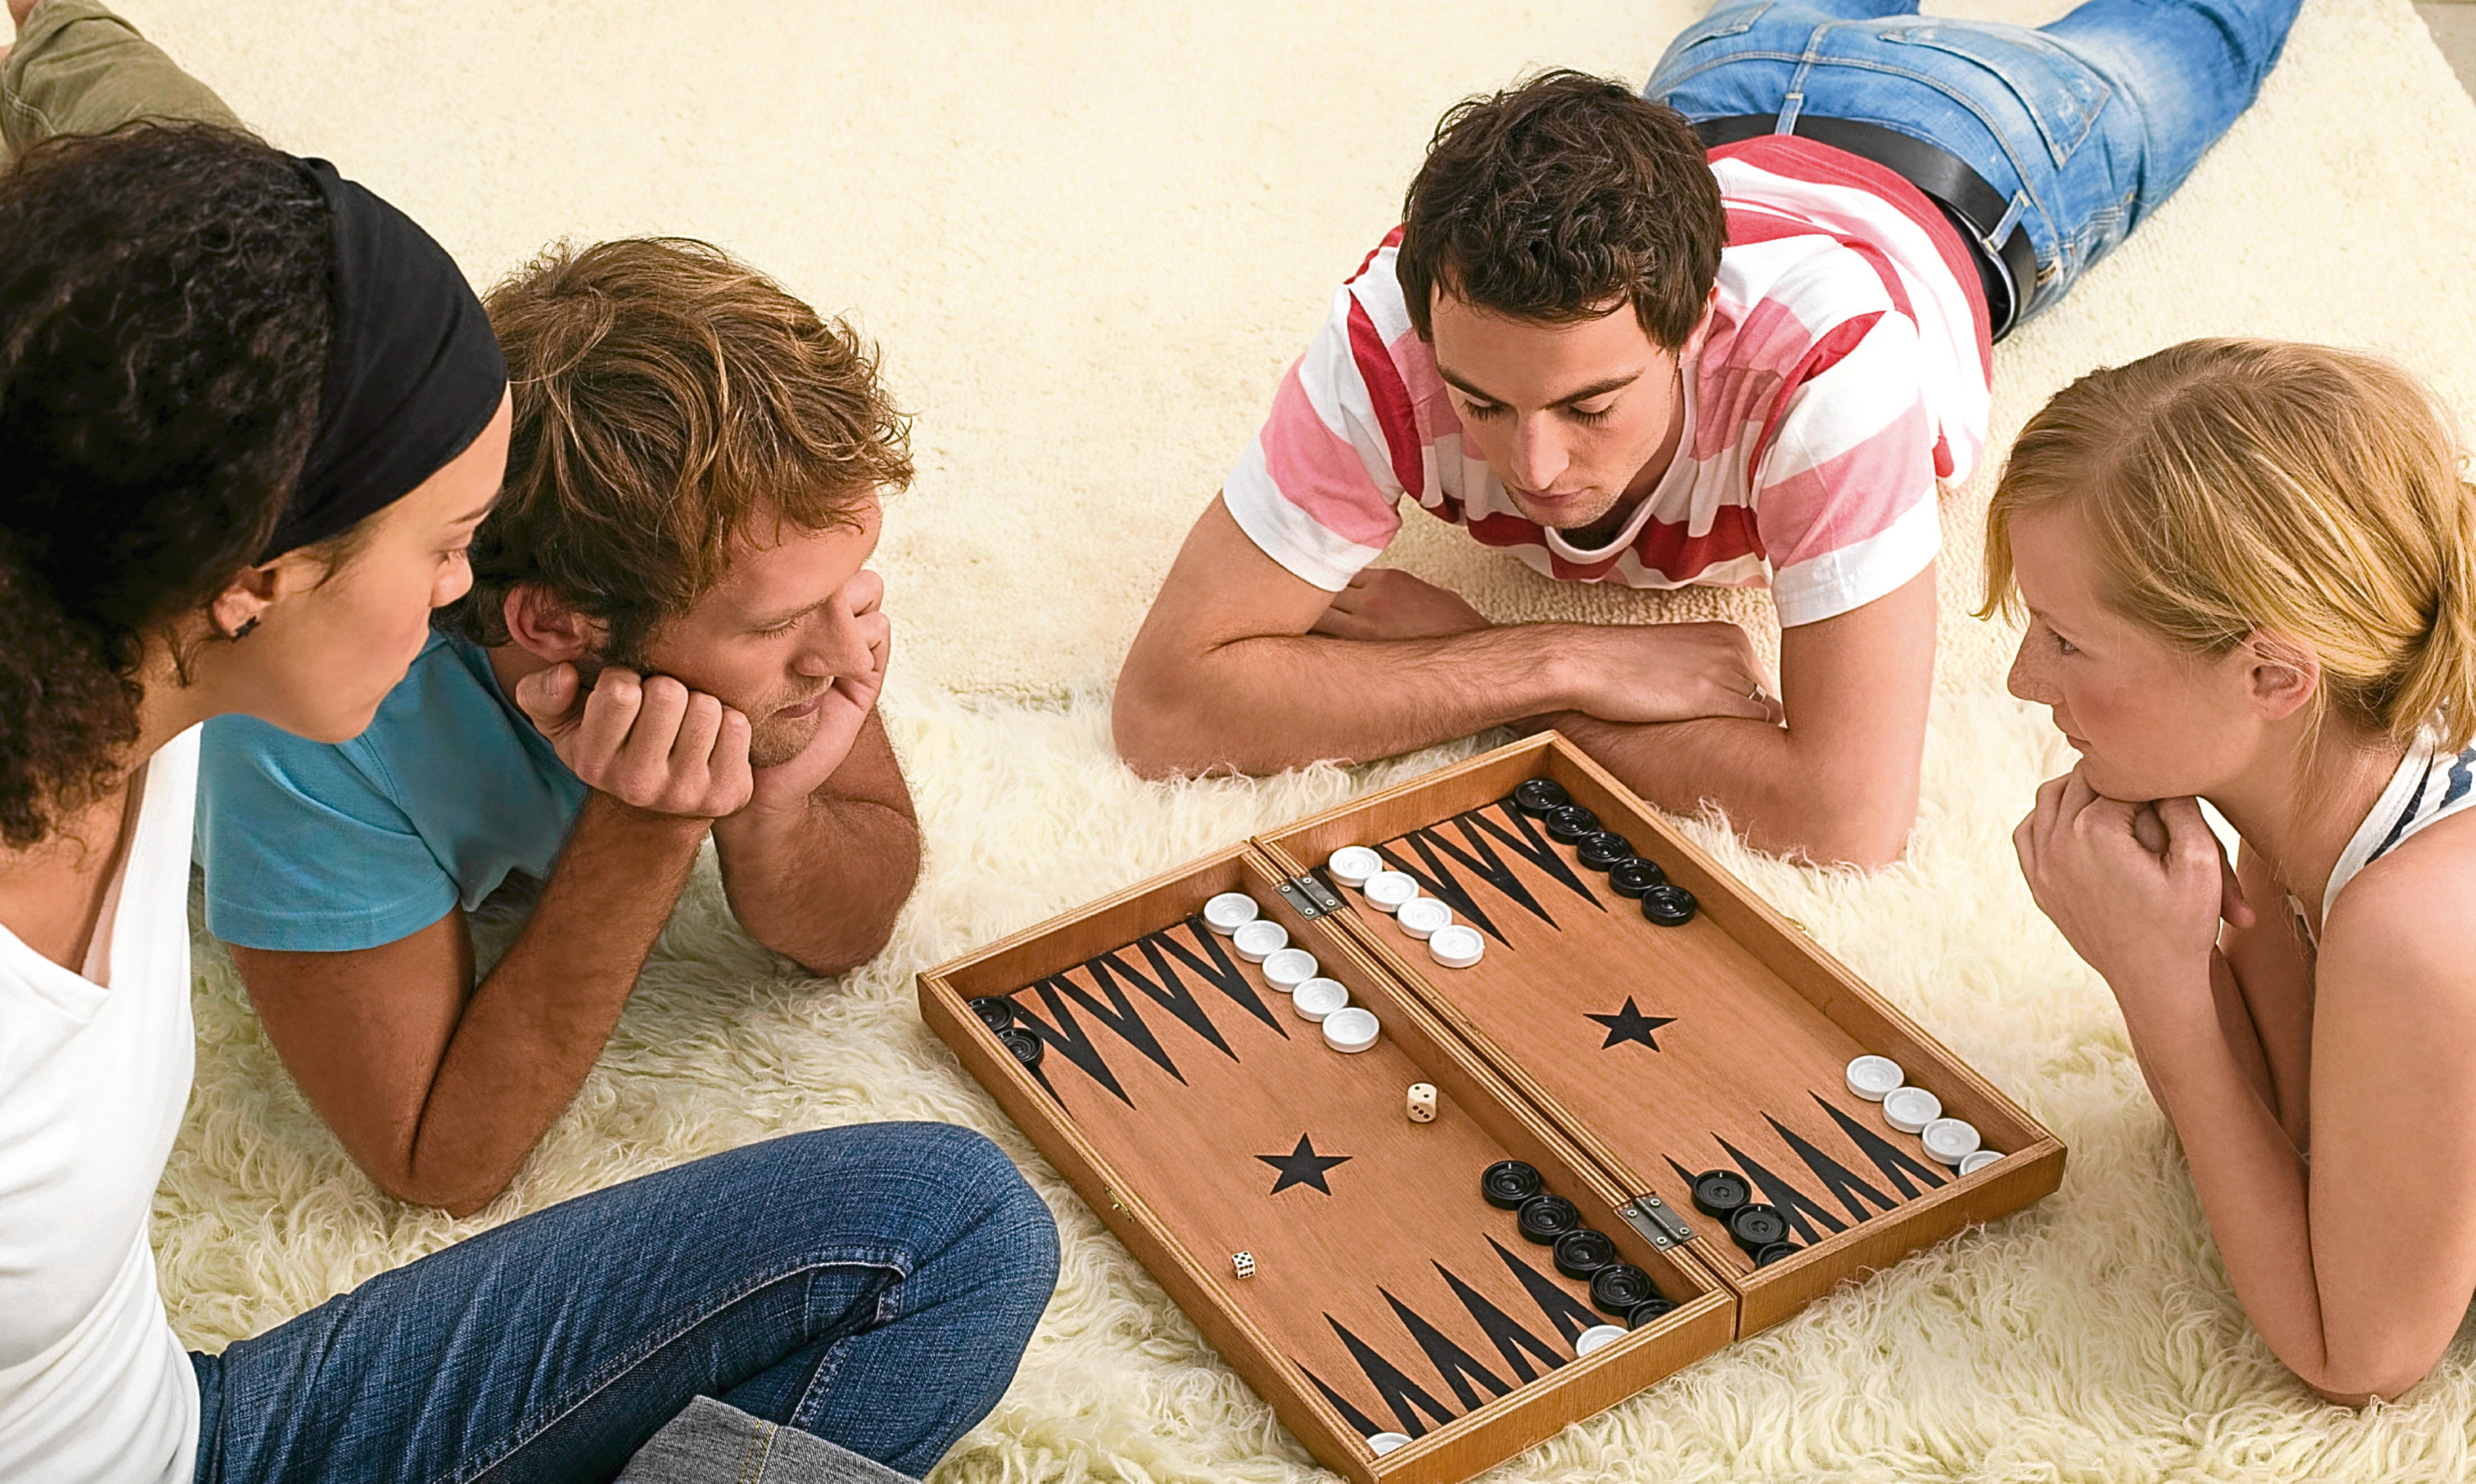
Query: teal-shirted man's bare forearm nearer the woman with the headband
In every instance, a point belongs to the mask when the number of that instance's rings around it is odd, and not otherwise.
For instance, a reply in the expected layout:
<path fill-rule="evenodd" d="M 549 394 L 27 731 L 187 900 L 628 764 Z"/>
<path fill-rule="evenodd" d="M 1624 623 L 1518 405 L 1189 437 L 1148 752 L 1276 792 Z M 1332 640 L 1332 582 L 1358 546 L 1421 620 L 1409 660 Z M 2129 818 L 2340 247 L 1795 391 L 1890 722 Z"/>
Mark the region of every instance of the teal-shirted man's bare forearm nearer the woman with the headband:
<path fill-rule="evenodd" d="M 602 1055 L 703 842 L 592 795 L 508 956 L 473 991 L 406 1154 L 406 1199 L 470 1211 L 515 1179 Z"/>

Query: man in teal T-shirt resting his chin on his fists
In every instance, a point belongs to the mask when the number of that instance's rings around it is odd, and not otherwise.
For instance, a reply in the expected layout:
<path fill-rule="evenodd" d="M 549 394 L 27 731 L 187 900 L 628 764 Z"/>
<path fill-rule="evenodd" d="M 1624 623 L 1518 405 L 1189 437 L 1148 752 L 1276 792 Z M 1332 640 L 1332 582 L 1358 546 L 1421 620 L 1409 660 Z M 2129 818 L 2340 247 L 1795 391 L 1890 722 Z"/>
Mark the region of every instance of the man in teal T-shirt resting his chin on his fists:
<path fill-rule="evenodd" d="M 206 922 L 399 1199 L 470 1211 L 567 1107 L 711 835 L 740 927 L 872 959 L 919 872 L 877 718 L 906 421 L 847 325 L 703 243 L 552 250 L 488 297 L 508 483 L 473 592 L 366 733 L 208 728 Z M 465 914 L 530 919 L 480 974 Z"/>

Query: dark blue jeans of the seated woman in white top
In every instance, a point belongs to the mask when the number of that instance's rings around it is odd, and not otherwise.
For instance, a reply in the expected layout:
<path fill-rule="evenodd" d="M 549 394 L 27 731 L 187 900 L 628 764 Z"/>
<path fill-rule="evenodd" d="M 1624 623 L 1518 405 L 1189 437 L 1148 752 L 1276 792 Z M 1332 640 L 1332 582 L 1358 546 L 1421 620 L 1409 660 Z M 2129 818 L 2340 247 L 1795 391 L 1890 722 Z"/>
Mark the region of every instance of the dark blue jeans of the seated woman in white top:
<path fill-rule="evenodd" d="M 980 1135 L 770 1140 L 193 1355 L 198 1484 L 602 1482 L 698 1395 L 924 1474 L 998 1405 L 1055 1283 L 1050 1209 Z"/>

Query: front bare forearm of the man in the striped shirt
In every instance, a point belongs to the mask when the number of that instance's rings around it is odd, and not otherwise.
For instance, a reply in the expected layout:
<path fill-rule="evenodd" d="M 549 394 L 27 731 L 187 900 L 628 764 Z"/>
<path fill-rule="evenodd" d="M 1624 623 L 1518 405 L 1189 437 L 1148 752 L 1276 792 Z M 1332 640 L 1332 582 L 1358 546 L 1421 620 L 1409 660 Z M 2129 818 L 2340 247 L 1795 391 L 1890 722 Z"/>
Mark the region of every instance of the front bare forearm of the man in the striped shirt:
<path fill-rule="evenodd" d="M 1278 773 L 1389 758 L 1572 704 L 1557 637 L 1510 624 L 1439 639 L 1233 639 L 1119 681 L 1119 753 L 1146 775 Z"/>

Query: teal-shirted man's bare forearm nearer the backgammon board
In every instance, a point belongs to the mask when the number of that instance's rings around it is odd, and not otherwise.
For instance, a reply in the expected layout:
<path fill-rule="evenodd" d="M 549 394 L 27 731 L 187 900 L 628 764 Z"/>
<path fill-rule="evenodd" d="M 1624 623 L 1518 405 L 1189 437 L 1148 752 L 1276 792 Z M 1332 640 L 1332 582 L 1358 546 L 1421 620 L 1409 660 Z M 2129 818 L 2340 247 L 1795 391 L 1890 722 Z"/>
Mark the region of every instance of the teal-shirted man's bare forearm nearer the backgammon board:
<path fill-rule="evenodd" d="M 820 795 L 790 820 L 723 820 L 713 847 L 748 936 L 812 974 L 874 959 L 921 867 L 911 815 L 862 798 Z"/>

